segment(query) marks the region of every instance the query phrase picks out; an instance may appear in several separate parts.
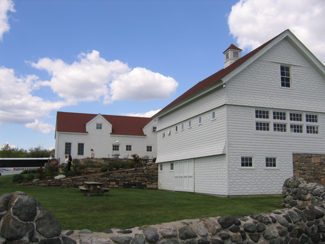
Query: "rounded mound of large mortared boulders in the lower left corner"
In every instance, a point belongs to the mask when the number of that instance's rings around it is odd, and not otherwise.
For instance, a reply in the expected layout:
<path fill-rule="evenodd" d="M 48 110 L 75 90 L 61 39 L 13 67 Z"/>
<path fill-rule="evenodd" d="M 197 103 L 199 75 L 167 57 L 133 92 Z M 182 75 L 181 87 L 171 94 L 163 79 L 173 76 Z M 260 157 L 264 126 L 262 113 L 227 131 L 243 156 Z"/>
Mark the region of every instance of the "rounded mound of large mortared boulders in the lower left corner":
<path fill-rule="evenodd" d="M 61 235 L 55 216 L 22 192 L 0 196 L 0 243 L 76 243 Z"/>

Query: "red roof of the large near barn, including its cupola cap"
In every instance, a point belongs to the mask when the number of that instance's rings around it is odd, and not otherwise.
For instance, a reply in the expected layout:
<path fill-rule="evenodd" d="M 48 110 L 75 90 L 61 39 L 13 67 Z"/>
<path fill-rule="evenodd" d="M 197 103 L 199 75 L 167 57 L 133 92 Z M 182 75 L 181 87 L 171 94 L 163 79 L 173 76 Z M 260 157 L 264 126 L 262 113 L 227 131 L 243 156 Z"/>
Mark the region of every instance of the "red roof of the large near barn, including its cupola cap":
<path fill-rule="evenodd" d="M 281 34 L 279 34 L 278 36 L 280 36 Z M 166 107 L 164 107 L 164 109 L 160 110 L 154 116 L 160 114 L 162 111 L 165 111 L 165 110 L 169 109 L 170 107 L 172 107 L 172 106 L 176 105 L 177 103 L 185 100 L 186 98 L 189 98 L 189 97 L 195 95 L 196 93 L 202 91 L 203 89 L 209 87 L 210 85 L 213 85 L 214 83 L 218 82 L 223 77 L 225 77 L 227 74 L 229 74 L 230 72 L 232 72 L 233 70 L 238 68 L 240 65 L 245 63 L 247 60 L 249 60 L 251 57 L 253 57 L 257 52 L 259 52 L 263 47 L 265 47 L 267 44 L 272 42 L 278 36 L 274 37 L 273 39 L 269 40 L 268 42 L 265 42 L 263 45 L 261 45 L 260 47 L 254 49 L 253 51 L 247 53 L 247 55 L 245 55 L 245 56 L 241 57 L 240 59 L 236 60 L 233 64 L 229 65 L 228 67 L 226 67 L 224 69 L 221 69 L 218 72 L 212 74 L 211 76 L 203 79 L 201 82 L 199 82 L 194 87 L 192 87 L 191 89 L 187 90 L 185 93 L 180 95 L 178 98 L 176 98 L 174 101 L 172 101 Z M 231 45 L 230 45 L 230 47 L 231 47 Z"/>

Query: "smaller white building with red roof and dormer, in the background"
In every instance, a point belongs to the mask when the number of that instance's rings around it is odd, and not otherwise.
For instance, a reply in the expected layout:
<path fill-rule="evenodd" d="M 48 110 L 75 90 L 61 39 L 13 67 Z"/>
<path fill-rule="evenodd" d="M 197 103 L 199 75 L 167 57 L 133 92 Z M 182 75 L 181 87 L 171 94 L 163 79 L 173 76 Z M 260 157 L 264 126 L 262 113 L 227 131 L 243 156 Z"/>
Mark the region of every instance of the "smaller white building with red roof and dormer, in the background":
<path fill-rule="evenodd" d="M 64 162 L 72 158 L 120 158 L 136 153 L 140 157 L 157 155 L 157 122 L 151 118 L 101 114 L 57 113 L 55 157 Z"/>

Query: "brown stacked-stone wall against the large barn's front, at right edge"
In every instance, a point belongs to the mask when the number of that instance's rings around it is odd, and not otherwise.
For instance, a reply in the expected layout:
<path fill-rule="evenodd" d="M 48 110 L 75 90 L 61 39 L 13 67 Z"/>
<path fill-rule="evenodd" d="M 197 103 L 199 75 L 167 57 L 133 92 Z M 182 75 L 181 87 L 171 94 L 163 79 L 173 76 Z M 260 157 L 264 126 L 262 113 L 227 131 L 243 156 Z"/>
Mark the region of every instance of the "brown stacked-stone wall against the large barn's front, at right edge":
<path fill-rule="evenodd" d="M 325 154 L 293 153 L 292 159 L 294 176 L 325 184 Z"/>

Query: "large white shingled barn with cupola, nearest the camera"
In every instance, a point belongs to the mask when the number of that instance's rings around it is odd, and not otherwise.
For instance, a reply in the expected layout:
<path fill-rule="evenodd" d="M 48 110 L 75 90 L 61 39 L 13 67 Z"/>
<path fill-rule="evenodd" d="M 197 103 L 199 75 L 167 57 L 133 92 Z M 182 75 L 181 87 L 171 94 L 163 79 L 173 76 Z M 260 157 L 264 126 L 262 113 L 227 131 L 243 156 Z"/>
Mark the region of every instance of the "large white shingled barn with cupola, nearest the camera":
<path fill-rule="evenodd" d="M 325 67 L 289 30 L 242 58 L 234 45 L 224 56 L 222 70 L 152 117 L 158 187 L 279 194 L 292 153 L 325 152 Z"/>

